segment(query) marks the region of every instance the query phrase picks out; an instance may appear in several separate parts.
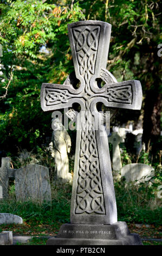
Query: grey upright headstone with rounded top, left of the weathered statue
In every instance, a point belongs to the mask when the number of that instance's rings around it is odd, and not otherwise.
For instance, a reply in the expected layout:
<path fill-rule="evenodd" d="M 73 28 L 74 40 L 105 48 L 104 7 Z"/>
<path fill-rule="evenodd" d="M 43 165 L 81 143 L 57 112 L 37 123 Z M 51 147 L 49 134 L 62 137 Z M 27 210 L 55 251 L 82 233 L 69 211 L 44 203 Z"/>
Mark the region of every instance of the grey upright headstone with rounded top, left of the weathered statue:
<path fill-rule="evenodd" d="M 15 171 L 15 193 L 19 201 L 51 200 L 49 170 L 39 164 L 28 164 Z"/>

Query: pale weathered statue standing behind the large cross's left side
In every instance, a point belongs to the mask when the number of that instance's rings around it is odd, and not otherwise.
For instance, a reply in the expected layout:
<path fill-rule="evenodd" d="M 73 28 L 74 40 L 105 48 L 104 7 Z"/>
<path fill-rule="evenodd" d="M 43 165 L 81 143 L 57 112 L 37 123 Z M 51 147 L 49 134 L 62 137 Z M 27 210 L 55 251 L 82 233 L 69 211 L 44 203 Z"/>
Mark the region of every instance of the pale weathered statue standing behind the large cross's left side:
<path fill-rule="evenodd" d="M 59 117 L 53 118 L 52 128 L 52 141 L 49 144 L 49 149 L 51 151 L 51 156 L 55 159 L 56 181 L 71 183 L 72 174 L 69 173 L 69 160 L 67 154 L 70 153 L 72 145 L 70 136 L 68 135 L 67 130 L 64 129 Z"/>

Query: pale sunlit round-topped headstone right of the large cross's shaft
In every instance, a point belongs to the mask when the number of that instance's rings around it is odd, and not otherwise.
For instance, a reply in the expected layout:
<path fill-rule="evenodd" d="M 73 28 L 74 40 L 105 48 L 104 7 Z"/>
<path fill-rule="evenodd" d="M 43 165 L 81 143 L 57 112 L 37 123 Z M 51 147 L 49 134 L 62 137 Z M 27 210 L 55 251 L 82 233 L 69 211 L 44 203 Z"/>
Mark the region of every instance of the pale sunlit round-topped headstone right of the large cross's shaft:
<path fill-rule="evenodd" d="M 121 168 L 120 172 L 127 182 L 137 180 L 137 184 L 150 180 L 154 175 L 153 167 L 144 163 L 127 164 Z"/>

